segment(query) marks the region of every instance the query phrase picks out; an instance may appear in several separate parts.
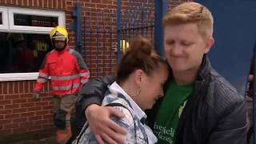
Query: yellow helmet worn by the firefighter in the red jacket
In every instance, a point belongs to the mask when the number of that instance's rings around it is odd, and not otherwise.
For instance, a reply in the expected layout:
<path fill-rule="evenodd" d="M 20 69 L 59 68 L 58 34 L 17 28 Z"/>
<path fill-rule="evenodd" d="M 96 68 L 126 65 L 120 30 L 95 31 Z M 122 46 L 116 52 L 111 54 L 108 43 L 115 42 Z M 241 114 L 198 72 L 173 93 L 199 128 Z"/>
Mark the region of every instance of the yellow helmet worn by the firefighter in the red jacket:
<path fill-rule="evenodd" d="M 66 41 L 66 44 L 69 42 L 68 33 L 66 29 L 62 26 L 56 26 L 53 30 L 50 31 L 50 41 Z"/>

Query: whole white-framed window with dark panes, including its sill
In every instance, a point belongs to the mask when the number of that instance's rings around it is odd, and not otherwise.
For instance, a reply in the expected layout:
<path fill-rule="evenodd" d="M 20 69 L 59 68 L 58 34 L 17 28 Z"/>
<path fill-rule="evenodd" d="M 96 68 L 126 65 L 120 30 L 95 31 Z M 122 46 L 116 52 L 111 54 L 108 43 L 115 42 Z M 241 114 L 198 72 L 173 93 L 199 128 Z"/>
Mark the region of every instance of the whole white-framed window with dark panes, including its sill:
<path fill-rule="evenodd" d="M 0 82 L 35 80 L 53 50 L 50 30 L 65 25 L 63 11 L 0 6 Z"/>

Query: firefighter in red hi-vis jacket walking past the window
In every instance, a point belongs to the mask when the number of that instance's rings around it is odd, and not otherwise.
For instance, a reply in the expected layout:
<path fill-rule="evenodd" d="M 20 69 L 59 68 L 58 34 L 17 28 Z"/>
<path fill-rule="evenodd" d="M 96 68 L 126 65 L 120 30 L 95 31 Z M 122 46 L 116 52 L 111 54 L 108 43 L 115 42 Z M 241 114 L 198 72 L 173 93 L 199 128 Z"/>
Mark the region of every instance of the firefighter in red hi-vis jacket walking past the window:
<path fill-rule="evenodd" d="M 33 92 L 38 99 L 42 87 L 51 78 L 51 90 L 54 96 L 54 125 L 57 127 L 56 140 L 66 143 L 71 137 L 70 112 L 77 101 L 78 92 L 90 78 L 90 72 L 81 55 L 70 48 L 66 29 L 55 27 L 50 32 L 54 46 L 46 54 L 39 70 L 39 76 Z"/>

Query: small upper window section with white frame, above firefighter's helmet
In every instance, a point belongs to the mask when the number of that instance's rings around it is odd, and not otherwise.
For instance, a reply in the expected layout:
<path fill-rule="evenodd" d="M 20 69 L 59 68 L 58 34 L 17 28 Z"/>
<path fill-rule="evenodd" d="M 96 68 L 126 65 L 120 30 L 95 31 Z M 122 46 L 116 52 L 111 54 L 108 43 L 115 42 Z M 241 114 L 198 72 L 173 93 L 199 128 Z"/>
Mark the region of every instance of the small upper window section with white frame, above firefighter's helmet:
<path fill-rule="evenodd" d="M 34 10 L 34 12 L 31 12 Z M 65 27 L 65 13 L 49 10 L 26 10 L 13 8 L 8 10 L 10 30 L 26 30 L 48 33 L 54 26 Z"/>

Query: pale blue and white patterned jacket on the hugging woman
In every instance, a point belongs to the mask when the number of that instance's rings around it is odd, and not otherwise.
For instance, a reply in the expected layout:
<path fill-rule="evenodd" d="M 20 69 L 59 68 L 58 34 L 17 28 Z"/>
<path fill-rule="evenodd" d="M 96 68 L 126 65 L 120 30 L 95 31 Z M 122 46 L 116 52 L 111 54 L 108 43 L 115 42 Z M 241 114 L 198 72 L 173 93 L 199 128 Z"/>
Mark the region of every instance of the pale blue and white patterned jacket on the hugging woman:
<path fill-rule="evenodd" d="M 146 126 L 142 119 L 146 119 L 146 114 L 142 111 L 138 105 L 122 90 L 116 82 L 111 86 L 108 86 L 108 91 L 105 94 L 102 106 L 106 106 L 110 103 L 120 103 L 122 106 L 114 106 L 115 109 L 122 111 L 125 114 L 124 118 L 117 118 L 112 116 L 111 119 L 118 123 L 119 126 L 124 127 L 128 134 L 123 137 L 128 144 L 153 144 L 157 142 L 157 138 L 154 136 L 150 127 Z M 86 130 L 85 130 L 86 129 Z M 84 133 L 83 133 L 84 132 Z M 83 126 L 78 138 L 72 144 L 95 144 L 98 143 L 94 134 L 90 131 L 88 123 Z"/>

